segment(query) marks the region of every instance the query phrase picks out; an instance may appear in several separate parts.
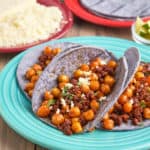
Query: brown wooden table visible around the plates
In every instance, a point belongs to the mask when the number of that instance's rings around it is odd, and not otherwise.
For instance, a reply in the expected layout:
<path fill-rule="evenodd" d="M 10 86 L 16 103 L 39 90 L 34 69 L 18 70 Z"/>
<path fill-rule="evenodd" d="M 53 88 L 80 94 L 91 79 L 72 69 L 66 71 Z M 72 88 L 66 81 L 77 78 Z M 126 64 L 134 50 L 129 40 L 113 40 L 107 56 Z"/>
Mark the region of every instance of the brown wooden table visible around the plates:
<path fill-rule="evenodd" d="M 72 29 L 65 35 L 65 37 L 73 36 L 113 36 L 131 40 L 130 28 L 128 29 L 115 29 L 109 27 L 102 27 L 90 24 L 75 18 Z M 5 67 L 17 53 L 1 54 L 0 53 L 0 71 Z M 7 124 L 0 118 L 0 150 L 42 150 L 28 140 L 22 138 L 10 129 Z"/>

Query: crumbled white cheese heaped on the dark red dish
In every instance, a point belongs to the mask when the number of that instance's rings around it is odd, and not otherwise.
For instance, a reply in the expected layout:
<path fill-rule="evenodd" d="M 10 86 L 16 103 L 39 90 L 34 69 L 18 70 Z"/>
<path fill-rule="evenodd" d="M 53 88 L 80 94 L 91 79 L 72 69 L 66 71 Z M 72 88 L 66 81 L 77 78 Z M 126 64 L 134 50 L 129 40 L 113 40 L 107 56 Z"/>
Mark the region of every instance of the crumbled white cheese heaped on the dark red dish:
<path fill-rule="evenodd" d="M 38 3 L 17 7 L 0 16 L 0 47 L 13 47 L 47 39 L 60 30 L 59 8 Z"/>

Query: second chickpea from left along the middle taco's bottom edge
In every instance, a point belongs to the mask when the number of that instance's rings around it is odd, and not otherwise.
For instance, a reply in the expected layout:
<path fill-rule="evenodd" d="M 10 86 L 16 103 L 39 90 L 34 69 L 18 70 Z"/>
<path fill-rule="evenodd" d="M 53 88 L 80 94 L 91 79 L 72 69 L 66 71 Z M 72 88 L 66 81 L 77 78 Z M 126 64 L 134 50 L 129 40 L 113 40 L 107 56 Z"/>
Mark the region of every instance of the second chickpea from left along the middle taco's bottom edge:
<path fill-rule="evenodd" d="M 65 119 L 62 114 L 54 114 L 51 119 L 52 123 L 56 126 L 62 124 L 64 122 L 64 120 Z"/>

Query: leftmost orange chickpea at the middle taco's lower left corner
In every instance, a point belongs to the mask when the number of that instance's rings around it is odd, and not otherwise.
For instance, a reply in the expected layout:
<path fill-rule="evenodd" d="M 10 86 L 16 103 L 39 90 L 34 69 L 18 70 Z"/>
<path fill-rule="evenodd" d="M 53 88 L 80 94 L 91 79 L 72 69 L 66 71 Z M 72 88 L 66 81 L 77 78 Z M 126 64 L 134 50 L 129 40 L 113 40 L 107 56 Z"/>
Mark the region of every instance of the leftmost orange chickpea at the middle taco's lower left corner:
<path fill-rule="evenodd" d="M 50 113 L 50 110 L 46 105 L 40 106 L 38 111 L 37 111 L 37 115 L 39 117 L 42 117 L 42 118 L 43 117 L 48 117 L 49 113 Z"/>

